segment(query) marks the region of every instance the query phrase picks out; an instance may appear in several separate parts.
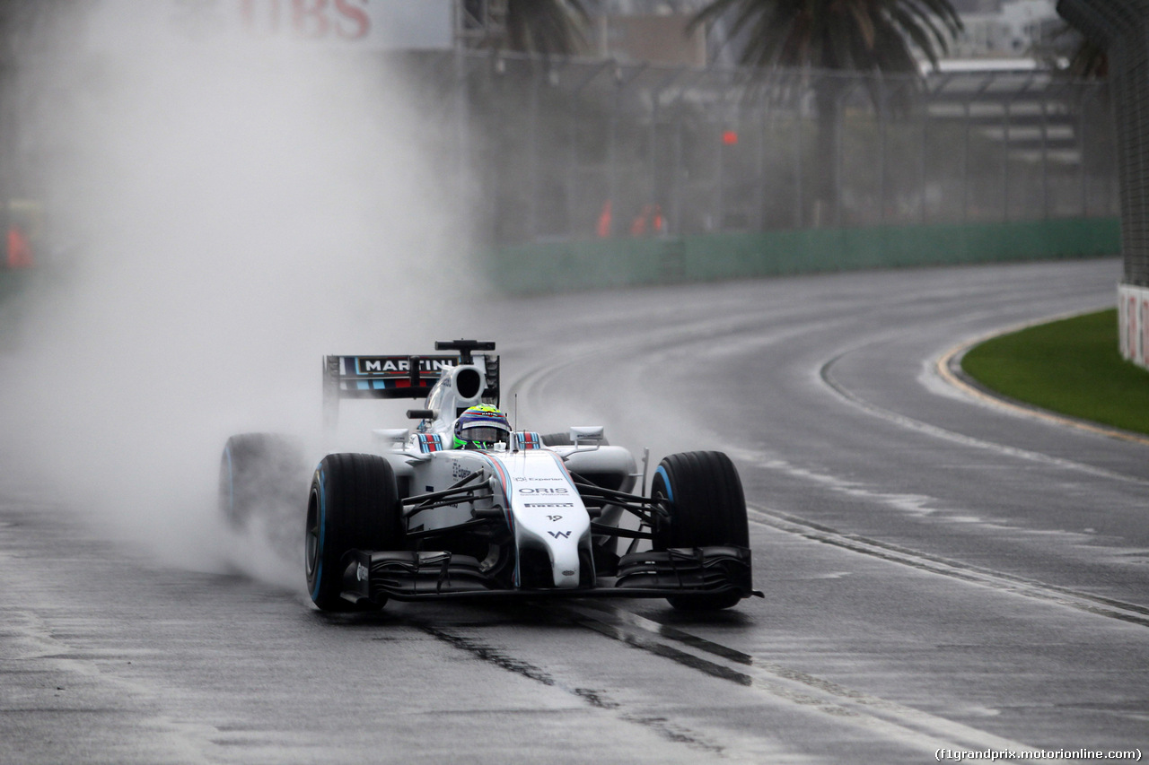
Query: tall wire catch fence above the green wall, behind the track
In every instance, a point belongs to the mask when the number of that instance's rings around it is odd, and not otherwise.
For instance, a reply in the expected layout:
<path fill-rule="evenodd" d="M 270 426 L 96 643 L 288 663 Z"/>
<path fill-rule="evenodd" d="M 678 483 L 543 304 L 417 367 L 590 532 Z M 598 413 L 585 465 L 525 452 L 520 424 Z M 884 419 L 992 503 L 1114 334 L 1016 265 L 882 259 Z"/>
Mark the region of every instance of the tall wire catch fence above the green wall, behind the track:
<path fill-rule="evenodd" d="M 916 78 L 506 53 L 421 65 L 461 121 L 454 153 L 493 245 L 1119 210 L 1106 86 L 1048 71 Z"/>

